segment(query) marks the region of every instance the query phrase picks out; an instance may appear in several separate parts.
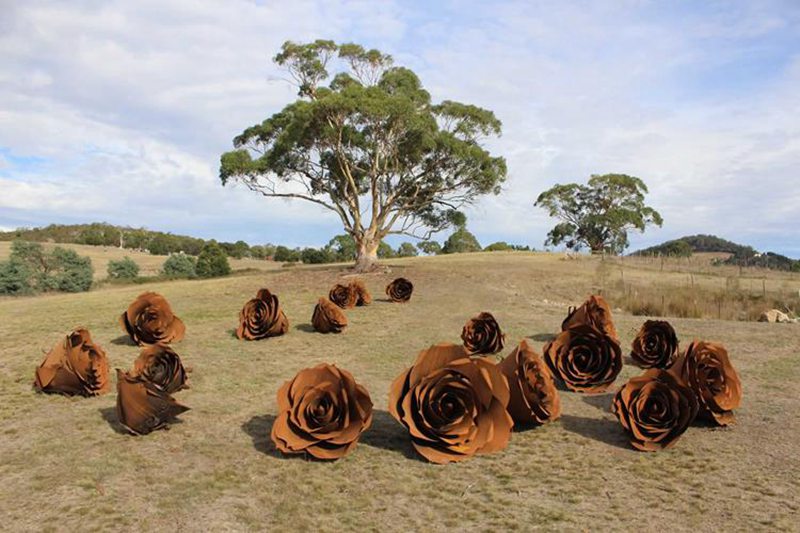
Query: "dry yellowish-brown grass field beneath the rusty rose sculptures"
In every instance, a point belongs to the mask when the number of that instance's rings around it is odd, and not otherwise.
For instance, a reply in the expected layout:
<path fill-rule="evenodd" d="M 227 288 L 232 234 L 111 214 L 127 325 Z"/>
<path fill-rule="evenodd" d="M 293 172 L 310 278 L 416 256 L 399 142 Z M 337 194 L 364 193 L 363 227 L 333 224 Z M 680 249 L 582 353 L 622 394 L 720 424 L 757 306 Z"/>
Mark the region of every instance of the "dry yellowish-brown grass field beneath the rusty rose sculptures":
<path fill-rule="evenodd" d="M 139 257 L 134 257 L 139 260 Z M 145 258 L 141 258 L 144 260 Z M 628 283 L 686 283 L 680 265 L 624 264 Z M 491 311 L 506 332 L 541 346 L 569 304 L 614 282 L 597 259 L 493 253 L 387 262 L 363 276 L 376 301 L 347 312 L 341 335 L 313 333 L 318 296 L 343 266 L 275 269 L 208 281 L 104 287 L 84 294 L 0 300 L 0 514 L 5 530 L 792 530 L 800 527 L 800 324 L 674 319 L 680 338 L 724 343 L 743 383 L 738 424 L 691 427 L 666 452 L 629 448 L 610 394 L 562 392 L 561 419 L 515 433 L 500 453 L 436 466 L 418 459 L 387 413 L 392 379 L 439 341 Z M 95 268 L 100 270 L 99 264 Z M 616 268 L 616 267 L 615 267 Z M 617 269 L 618 270 L 618 269 Z M 104 270 L 101 270 L 104 272 Z M 383 300 L 396 276 L 415 284 L 408 304 Z M 697 287 L 725 286 L 701 273 Z M 796 294 L 800 278 L 769 275 Z M 756 290 L 760 289 L 760 282 Z M 287 335 L 243 342 L 242 304 L 277 293 Z M 138 353 L 117 317 L 140 292 L 164 294 L 187 325 L 176 344 L 192 368 L 191 407 L 168 431 L 124 434 L 115 394 L 65 398 L 31 390 L 44 352 L 83 325 L 128 368 Z M 611 301 L 616 307 L 615 302 Z M 643 318 L 615 314 L 623 346 Z M 269 440 L 275 393 L 301 368 L 327 361 L 369 390 L 374 422 L 335 463 L 281 457 Z M 625 365 L 617 384 L 639 370 Z"/>

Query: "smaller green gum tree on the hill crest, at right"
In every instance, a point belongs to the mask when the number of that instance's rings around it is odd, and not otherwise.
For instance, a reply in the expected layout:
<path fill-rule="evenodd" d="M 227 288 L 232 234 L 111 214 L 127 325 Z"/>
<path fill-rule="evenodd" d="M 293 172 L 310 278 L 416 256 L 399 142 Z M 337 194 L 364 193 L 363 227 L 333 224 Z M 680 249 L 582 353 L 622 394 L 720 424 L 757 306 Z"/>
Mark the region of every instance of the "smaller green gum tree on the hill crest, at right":
<path fill-rule="evenodd" d="M 644 204 L 647 186 L 626 174 L 593 175 L 587 185 L 555 185 L 534 203 L 561 220 L 547 234 L 545 246 L 588 247 L 592 253 L 619 254 L 628 247 L 628 230 L 644 231 L 663 219 Z"/>

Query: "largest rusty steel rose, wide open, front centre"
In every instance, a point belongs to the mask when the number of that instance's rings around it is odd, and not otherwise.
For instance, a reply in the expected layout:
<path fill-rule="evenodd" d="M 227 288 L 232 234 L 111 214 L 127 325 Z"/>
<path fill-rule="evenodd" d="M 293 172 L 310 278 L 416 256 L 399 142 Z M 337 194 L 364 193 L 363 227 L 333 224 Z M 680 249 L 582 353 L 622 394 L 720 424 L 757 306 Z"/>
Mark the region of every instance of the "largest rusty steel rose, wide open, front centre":
<path fill-rule="evenodd" d="M 508 381 L 493 361 L 443 343 L 420 352 L 394 380 L 389 412 L 420 455 L 444 464 L 506 447 L 514 425 L 509 398 Z"/>

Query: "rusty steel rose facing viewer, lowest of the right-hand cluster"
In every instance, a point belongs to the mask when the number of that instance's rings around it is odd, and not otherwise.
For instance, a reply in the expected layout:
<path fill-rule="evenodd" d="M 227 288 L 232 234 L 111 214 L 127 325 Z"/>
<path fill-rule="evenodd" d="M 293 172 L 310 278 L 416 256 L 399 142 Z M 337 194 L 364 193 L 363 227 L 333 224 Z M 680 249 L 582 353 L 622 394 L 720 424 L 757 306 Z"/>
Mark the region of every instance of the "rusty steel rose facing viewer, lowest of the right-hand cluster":
<path fill-rule="evenodd" d="M 669 448 L 697 416 L 691 389 L 666 370 L 653 368 L 631 378 L 614 396 L 611 411 L 637 450 Z"/>

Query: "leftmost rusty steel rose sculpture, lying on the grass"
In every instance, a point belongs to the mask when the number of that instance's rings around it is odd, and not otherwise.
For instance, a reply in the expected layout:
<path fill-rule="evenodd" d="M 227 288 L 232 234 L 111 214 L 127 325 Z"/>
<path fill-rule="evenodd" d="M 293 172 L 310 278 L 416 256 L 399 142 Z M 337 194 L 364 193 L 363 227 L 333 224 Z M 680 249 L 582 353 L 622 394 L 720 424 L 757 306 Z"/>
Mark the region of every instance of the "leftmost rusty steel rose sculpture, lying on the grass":
<path fill-rule="evenodd" d="M 76 329 L 58 341 L 36 368 L 34 388 L 69 396 L 97 396 L 111 390 L 106 352 L 89 332 Z"/>

